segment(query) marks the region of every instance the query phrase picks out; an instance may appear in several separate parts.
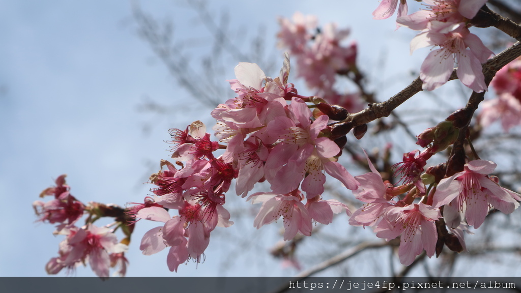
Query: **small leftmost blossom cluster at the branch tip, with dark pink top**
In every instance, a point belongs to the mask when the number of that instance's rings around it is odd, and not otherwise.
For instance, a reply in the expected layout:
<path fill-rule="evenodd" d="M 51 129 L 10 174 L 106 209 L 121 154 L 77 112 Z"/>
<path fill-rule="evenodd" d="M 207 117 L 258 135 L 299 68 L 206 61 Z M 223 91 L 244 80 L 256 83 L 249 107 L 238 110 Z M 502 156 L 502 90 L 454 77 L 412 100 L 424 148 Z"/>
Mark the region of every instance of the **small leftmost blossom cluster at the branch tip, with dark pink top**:
<path fill-rule="evenodd" d="M 128 231 L 127 223 L 123 219 L 123 209 L 96 203 L 85 206 L 70 194 L 65 176 L 59 176 L 55 181 L 55 187 L 49 187 L 40 194 L 40 197 L 54 196 L 54 200 L 33 203 L 36 214 L 40 216 L 39 221 L 58 224 L 55 234 L 66 237 L 59 245 L 59 257 L 52 258 L 45 270 L 48 274 L 57 274 L 64 268 L 70 272 L 79 264 L 88 262 L 99 277 L 108 277 L 110 267 L 118 267 L 115 274 L 125 276 L 128 260 L 125 258 L 127 245 L 123 242 L 126 241 L 118 243 L 114 230 L 92 224 L 92 215 L 110 215 L 115 216 L 117 221 L 120 221 L 117 223 Z M 120 215 L 116 215 L 118 212 Z M 84 213 L 91 215 L 88 224 L 77 227 L 75 224 Z"/>

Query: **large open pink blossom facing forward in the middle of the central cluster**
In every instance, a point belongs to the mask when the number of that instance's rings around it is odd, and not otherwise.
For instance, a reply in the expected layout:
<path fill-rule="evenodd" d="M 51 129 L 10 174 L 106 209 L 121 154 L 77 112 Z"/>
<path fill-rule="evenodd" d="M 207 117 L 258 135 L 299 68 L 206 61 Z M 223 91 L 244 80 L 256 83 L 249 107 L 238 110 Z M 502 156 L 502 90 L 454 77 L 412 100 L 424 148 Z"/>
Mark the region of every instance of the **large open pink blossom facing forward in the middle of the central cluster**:
<path fill-rule="evenodd" d="M 333 158 L 340 152 L 338 145 L 327 137 L 318 137 L 320 130 L 327 127 L 328 117 L 322 115 L 311 123 L 311 111 L 295 97 L 288 109 L 291 118 L 277 117 L 268 125 L 268 132 L 281 140 L 270 152 L 265 166 L 274 169 L 266 174 L 271 189 L 289 193 L 302 181 L 307 198 L 314 198 L 324 192 L 324 170 L 346 188 L 355 189 L 356 180 Z"/>

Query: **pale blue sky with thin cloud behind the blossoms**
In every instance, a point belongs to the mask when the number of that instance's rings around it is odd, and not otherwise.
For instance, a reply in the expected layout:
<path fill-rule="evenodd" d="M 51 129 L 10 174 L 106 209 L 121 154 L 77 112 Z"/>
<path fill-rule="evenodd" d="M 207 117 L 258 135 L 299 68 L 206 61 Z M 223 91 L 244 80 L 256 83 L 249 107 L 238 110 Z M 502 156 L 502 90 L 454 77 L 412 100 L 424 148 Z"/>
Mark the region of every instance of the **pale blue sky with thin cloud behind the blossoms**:
<path fill-rule="evenodd" d="M 393 68 L 407 74 L 411 64 L 427 54 L 409 55 L 408 42 L 414 32 L 394 32 L 393 20 L 371 19 L 376 0 L 322 1 L 320 5 L 311 0 L 218 3 L 210 7 L 217 13 L 228 11 L 230 27 L 254 34 L 262 25 L 272 38 L 266 40 L 270 46 L 275 43 L 277 17 L 291 17 L 297 10 L 317 15 L 322 24 L 337 21 L 340 27 L 351 27 L 350 40 L 357 40 L 361 48 L 359 62 L 383 82 L 383 95 L 390 96 L 410 82 L 395 82 Z M 170 19 L 176 38 L 194 44 L 190 49 L 194 60 L 209 52 L 211 42 L 205 41 L 211 35 L 184 2 L 139 5 L 159 20 Z M 150 163 L 157 168 L 159 160 L 169 155 L 164 142 L 168 129 L 184 128 L 197 119 L 212 122 L 212 107 L 194 102 L 180 89 L 136 28 L 132 3 L 126 1 L 0 1 L 0 213 L 5 221 L 0 226 L 0 276 L 46 276 L 44 265 L 57 254 L 61 238 L 52 235 L 52 225 L 34 222 L 31 204 L 60 174 L 68 174 L 71 193 L 84 202 L 125 205 L 142 201 L 150 188 L 143 184 L 151 173 Z M 389 56 L 393 60 L 379 67 Z M 229 60 L 222 87 L 228 87 L 225 80 L 234 78 L 233 67 L 240 61 Z M 276 63 L 282 63 L 282 53 Z M 278 68 L 266 74 L 277 76 Z M 176 107 L 166 117 L 140 112 L 145 96 Z M 145 124 L 153 126 L 150 131 L 143 132 Z M 258 252 L 265 256 L 261 259 L 238 253 L 243 265 L 251 264 L 246 269 L 220 271 L 226 253 L 235 248 L 217 240 L 210 241 L 207 260 L 197 269 L 189 263 L 181 265 L 179 273 L 170 273 L 166 251 L 151 257 L 139 251 L 141 236 L 152 227 L 138 225 L 134 233 L 129 276 L 295 273 L 282 270 L 278 261 L 270 259 L 267 248 Z M 278 239 L 273 228 L 263 227 L 256 235 L 267 245 Z M 76 275 L 93 274 L 80 267 Z"/>

